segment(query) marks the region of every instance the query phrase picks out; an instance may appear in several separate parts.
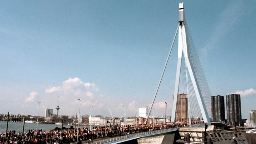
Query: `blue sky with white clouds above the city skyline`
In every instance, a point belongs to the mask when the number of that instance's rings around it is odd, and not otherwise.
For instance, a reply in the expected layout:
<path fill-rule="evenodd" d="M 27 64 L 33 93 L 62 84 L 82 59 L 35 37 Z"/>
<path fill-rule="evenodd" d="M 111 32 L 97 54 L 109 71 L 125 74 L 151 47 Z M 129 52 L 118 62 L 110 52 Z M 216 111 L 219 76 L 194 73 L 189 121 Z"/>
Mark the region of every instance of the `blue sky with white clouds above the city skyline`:
<path fill-rule="evenodd" d="M 138 115 L 154 96 L 178 25 L 172 1 L 1 1 L 0 113 Z M 256 2 L 184 1 L 212 95 L 240 93 L 242 117 L 255 108 Z M 156 98 L 171 115 L 177 43 Z M 54 110 L 54 112 L 56 112 Z"/>

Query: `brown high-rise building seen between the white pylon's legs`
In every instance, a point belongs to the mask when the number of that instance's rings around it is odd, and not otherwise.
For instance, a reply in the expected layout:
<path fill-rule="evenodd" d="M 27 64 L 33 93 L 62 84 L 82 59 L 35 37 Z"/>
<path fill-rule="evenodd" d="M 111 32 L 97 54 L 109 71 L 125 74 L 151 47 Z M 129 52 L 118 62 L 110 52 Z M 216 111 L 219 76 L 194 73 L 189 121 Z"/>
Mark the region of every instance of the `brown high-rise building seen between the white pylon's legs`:
<path fill-rule="evenodd" d="M 174 95 L 172 95 L 173 103 Z M 184 93 L 178 94 L 177 105 L 176 105 L 176 122 L 187 122 L 188 121 L 188 98 Z"/>

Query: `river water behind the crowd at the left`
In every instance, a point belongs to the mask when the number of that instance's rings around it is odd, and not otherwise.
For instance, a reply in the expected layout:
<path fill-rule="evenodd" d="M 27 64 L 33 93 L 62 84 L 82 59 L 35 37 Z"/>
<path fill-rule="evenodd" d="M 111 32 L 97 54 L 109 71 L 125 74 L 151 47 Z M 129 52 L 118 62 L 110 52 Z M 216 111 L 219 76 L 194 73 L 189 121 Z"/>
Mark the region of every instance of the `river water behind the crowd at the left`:
<path fill-rule="evenodd" d="M 6 130 L 6 123 L 7 122 L 2 122 L 0 121 L 0 133 L 5 133 Z M 63 125 L 63 127 L 66 128 L 70 128 L 71 125 Z M 42 130 L 52 130 L 55 127 L 59 127 L 61 128 L 62 125 L 55 125 L 55 124 L 38 124 L 38 129 L 42 129 Z M 80 127 L 80 126 L 79 126 Z M 25 123 L 25 127 L 24 127 L 24 132 L 26 130 L 31 130 L 31 129 L 36 129 L 36 123 Z M 10 130 L 16 130 L 16 133 L 22 131 L 22 122 L 12 122 L 10 121 L 8 123 L 8 131 Z"/>

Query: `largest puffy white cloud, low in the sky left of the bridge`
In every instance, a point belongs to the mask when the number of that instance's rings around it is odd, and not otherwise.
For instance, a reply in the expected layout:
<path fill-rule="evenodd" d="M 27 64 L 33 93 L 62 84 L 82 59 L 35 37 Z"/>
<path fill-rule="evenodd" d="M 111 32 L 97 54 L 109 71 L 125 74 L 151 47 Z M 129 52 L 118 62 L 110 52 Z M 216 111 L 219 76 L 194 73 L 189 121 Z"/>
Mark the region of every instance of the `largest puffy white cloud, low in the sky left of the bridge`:
<path fill-rule="evenodd" d="M 100 89 L 96 86 L 95 83 L 83 82 L 80 78 L 68 78 L 60 85 L 52 86 L 45 90 L 45 97 L 56 98 L 54 104 L 48 104 L 47 107 L 52 107 L 57 104 L 58 96 L 60 96 L 60 111 L 59 112 L 70 112 L 76 110 L 76 108 L 68 107 L 69 104 L 79 105 L 79 100 L 81 99 L 81 112 L 86 111 L 90 113 L 90 106 L 93 105 L 95 111 L 105 105 L 106 99 L 104 99 L 103 94 L 98 92 Z M 100 99 L 99 99 L 100 98 Z M 42 101 L 43 103 L 43 101 Z M 89 111 L 87 111 L 89 109 Z M 96 110 L 97 109 L 97 110 Z M 63 112 L 64 113 L 64 112 Z"/>

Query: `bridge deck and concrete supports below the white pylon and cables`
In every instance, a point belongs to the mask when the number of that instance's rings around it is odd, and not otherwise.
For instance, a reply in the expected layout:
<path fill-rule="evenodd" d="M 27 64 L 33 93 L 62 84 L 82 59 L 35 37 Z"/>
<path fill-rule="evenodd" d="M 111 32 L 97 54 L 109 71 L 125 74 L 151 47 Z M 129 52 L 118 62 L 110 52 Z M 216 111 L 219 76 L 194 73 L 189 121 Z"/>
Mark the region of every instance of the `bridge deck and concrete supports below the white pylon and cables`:
<path fill-rule="evenodd" d="M 242 133 L 236 131 L 227 131 L 217 129 L 213 124 L 225 125 L 227 127 L 231 127 L 230 125 L 226 125 L 220 122 L 212 122 L 212 125 L 207 129 L 206 136 L 211 139 L 212 142 L 218 144 L 223 143 L 232 143 L 236 140 L 238 143 L 242 144 L 254 144 L 256 141 L 256 134 Z M 114 136 L 108 138 L 100 138 L 95 139 L 93 141 L 94 144 L 173 144 L 178 141 L 183 141 L 186 134 L 189 134 L 189 138 L 191 139 L 191 143 L 204 143 L 204 127 L 198 127 L 198 125 L 193 125 L 195 127 L 192 128 L 182 128 L 182 127 L 174 127 L 167 128 L 161 130 L 154 130 L 148 132 L 140 132 L 140 133 L 131 133 L 122 136 Z M 84 141 L 87 143 L 88 141 Z M 83 142 L 83 143 L 84 143 Z M 72 143 L 76 144 L 76 143 Z"/>

